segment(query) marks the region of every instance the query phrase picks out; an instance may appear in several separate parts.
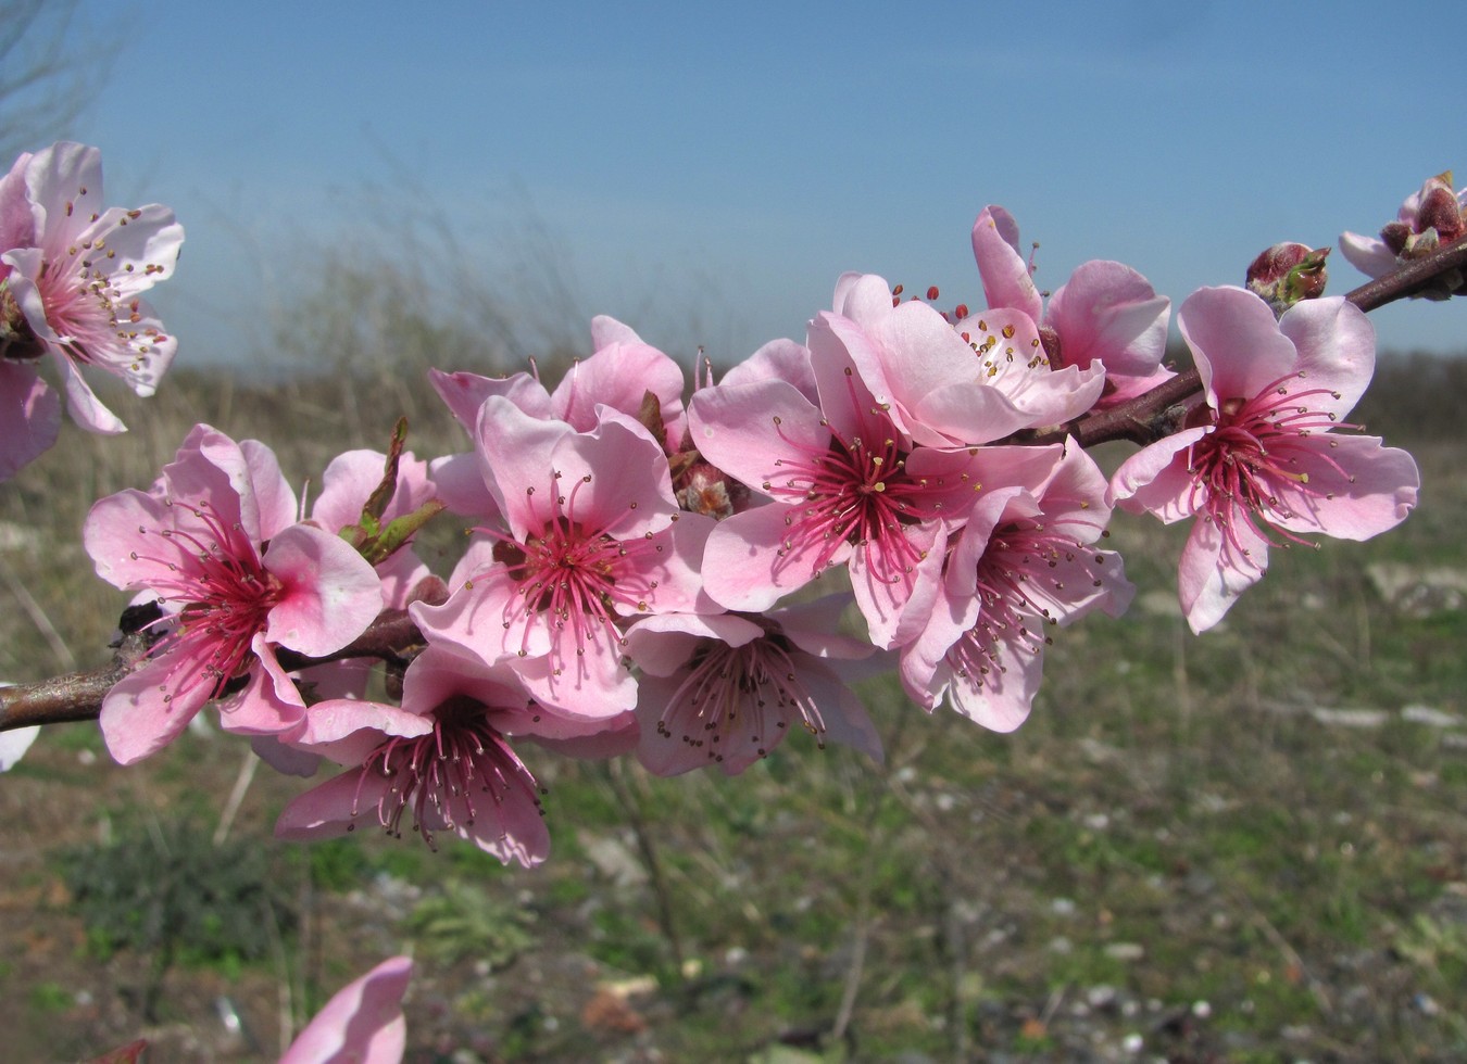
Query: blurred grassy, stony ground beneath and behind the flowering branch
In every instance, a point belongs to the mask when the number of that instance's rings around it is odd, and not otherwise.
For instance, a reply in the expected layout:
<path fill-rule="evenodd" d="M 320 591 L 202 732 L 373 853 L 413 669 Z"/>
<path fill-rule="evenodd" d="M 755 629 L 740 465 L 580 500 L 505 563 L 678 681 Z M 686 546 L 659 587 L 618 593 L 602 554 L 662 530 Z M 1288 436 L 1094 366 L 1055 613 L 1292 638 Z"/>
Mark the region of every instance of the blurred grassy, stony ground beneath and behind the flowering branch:
<path fill-rule="evenodd" d="M 0 523 L 22 532 L 0 551 L 0 580 L 34 604 L 0 616 L 0 676 L 104 657 L 125 596 L 91 575 L 76 529 L 91 500 L 151 481 L 186 412 L 268 440 L 296 484 L 337 450 L 384 446 L 399 412 L 422 453 L 462 446 L 402 374 L 258 393 L 198 375 L 169 385 L 150 404 L 109 396 L 131 437 L 67 428 L 66 462 L 48 456 L 0 489 Z M 1379 542 L 1281 553 L 1203 639 L 1168 605 L 1184 529 L 1119 519 L 1138 604 L 1056 635 L 1012 736 L 929 718 L 876 680 L 864 693 L 882 769 L 817 753 L 804 734 L 735 780 L 657 780 L 531 747 L 555 840 L 533 872 L 368 832 L 274 843 L 301 783 L 263 772 L 229 844 L 260 847 L 298 923 L 274 948 L 226 950 L 227 964 L 200 944 L 178 950 L 160 1011 L 222 1039 L 213 1004 L 229 994 L 261 1046 L 230 1052 L 268 1058 L 283 997 L 305 1013 L 409 948 L 421 1060 L 1105 1060 L 1127 1058 L 1128 1038 L 1178 1060 L 1461 1057 L 1467 724 L 1401 711 L 1467 718 L 1467 617 L 1398 613 L 1367 569 L 1463 567 L 1467 492 L 1455 443 L 1394 443 L 1422 460 L 1422 510 Z M 446 522 L 425 548 L 450 558 L 458 535 Z M 1329 715 L 1348 709 L 1382 717 Z M 138 871 L 98 837 L 197 822 L 207 868 L 239 756 L 188 734 L 120 769 L 94 727 L 67 725 L 3 780 L 0 1019 L 18 1051 L 95 1055 L 139 1033 L 125 983 L 145 982 L 151 958 L 113 938 L 119 963 L 136 954 L 126 979 L 89 960 L 88 903 L 60 854 L 87 843 L 92 879 L 145 881 L 158 868 Z M 238 916 L 219 897 L 210 934 Z M 60 1043 L 57 1024 L 73 1032 Z M 163 1060 L 183 1045 L 154 1038 Z"/>

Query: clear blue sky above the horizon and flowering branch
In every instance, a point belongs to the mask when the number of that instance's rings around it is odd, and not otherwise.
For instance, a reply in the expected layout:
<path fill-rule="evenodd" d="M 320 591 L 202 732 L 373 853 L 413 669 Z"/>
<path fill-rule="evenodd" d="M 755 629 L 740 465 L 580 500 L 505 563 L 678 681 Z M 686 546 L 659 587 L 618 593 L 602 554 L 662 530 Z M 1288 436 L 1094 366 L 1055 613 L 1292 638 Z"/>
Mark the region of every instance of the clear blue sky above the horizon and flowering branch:
<path fill-rule="evenodd" d="M 421 256 L 403 227 L 439 218 L 430 273 L 519 292 L 550 249 L 565 298 L 527 315 L 731 361 L 801 337 L 845 270 L 978 303 L 989 202 L 1040 242 L 1042 287 L 1112 258 L 1174 308 L 1275 240 L 1375 232 L 1424 177 L 1467 179 L 1446 13 L 82 0 L 84 35 L 126 44 L 54 136 L 103 148 L 111 202 L 185 223 L 156 299 L 180 359 L 257 355 L 323 249 Z M 1332 293 L 1363 280 L 1336 256 Z M 1383 349 L 1467 349 L 1463 303 L 1373 318 Z"/>

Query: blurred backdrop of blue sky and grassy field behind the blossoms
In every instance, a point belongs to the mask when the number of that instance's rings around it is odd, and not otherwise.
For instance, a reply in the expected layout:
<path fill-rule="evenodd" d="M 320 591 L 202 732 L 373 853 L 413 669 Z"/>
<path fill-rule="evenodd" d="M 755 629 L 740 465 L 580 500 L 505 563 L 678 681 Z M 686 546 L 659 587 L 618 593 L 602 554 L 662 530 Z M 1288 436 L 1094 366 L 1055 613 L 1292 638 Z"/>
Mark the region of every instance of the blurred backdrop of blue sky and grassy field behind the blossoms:
<path fill-rule="evenodd" d="M 153 293 L 175 371 L 147 403 L 98 383 L 133 431 L 67 425 L 0 485 L 0 676 L 106 658 L 126 596 L 81 520 L 200 419 L 295 484 L 400 413 L 447 453 L 428 365 L 553 377 L 610 314 L 726 366 L 802 337 L 846 270 L 978 303 L 990 202 L 1042 287 L 1113 258 L 1174 309 L 1273 242 L 1375 233 L 1467 170 L 1444 19 L 0 0 L 6 157 L 95 144 L 109 204 L 188 230 Z M 1332 293 L 1364 280 L 1332 258 Z M 156 1060 L 271 1060 L 402 950 L 422 1061 L 1460 1058 L 1467 311 L 1372 319 L 1358 419 L 1417 454 L 1420 510 L 1281 553 L 1204 639 L 1175 608 L 1185 531 L 1118 520 L 1137 605 L 1056 633 L 1014 736 L 874 683 L 880 771 L 802 734 L 735 780 L 533 750 L 553 854 L 522 872 L 277 846 L 299 781 L 207 728 L 126 771 L 92 725 L 47 731 L 0 778 L 18 1058 L 145 1035 Z M 422 550 L 446 572 L 459 538 Z"/>

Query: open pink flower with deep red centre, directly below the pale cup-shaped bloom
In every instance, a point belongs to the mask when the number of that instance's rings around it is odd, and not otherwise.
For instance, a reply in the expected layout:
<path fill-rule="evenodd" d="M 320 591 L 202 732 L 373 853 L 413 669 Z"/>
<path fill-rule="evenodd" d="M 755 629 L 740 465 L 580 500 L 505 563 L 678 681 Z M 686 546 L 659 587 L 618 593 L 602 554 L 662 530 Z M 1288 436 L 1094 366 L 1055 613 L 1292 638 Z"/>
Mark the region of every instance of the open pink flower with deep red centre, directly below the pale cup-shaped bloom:
<path fill-rule="evenodd" d="M 810 330 L 820 406 L 779 380 L 694 393 L 701 454 L 770 500 L 714 526 L 703 580 L 720 605 L 758 613 L 849 566 L 871 642 L 892 646 L 937 525 L 961 523 L 973 504 L 973 457 L 912 446 L 829 336 L 833 321 Z"/>

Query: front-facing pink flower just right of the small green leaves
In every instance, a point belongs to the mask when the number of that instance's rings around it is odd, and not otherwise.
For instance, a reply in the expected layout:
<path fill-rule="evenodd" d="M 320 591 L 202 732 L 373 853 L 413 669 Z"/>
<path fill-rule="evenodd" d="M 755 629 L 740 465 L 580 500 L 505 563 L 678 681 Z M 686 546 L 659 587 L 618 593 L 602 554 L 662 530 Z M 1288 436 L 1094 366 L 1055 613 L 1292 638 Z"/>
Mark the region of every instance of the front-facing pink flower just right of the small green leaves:
<path fill-rule="evenodd" d="M 711 522 L 678 510 L 662 448 L 609 407 L 577 432 L 490 396 L 475 446 L 503 514 L 502 528 L 478 529 L 494 539 L 491 563 L 461 563 L 449 601 L 415 602 L 412 618 L 430 642 L 512 660 L 543 705 L 629 711 L 637 684 L 621 665 L 618 623 L 698 608 Z"/>

